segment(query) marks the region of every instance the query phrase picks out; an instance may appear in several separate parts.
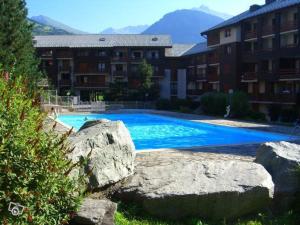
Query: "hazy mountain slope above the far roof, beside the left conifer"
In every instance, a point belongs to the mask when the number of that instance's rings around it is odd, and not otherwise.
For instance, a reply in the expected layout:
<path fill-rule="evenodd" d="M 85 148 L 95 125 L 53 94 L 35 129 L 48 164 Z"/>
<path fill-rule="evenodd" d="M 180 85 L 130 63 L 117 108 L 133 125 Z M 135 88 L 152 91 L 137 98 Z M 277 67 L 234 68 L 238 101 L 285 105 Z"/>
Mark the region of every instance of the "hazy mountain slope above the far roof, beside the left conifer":
<path fill-rule="evenodd" d="M 32 21 L 37 22 L 38 24 L 53 27 L 53 28 L 58 29 L 58 30 L 64 30 L 64 31 L 66 31 L 67 33 L 70 33 L 70 34 L 86 34 L 86 32 L 83 32 L 83 31 L 74 29 L 72 27 L 69 27 L 68 25 L 65 25 L 61 22 L 53 20 L 53 19 L 51 19 L 47 16 L 43 16 L 43 15 L 33 16 L 30 19 Z"/>

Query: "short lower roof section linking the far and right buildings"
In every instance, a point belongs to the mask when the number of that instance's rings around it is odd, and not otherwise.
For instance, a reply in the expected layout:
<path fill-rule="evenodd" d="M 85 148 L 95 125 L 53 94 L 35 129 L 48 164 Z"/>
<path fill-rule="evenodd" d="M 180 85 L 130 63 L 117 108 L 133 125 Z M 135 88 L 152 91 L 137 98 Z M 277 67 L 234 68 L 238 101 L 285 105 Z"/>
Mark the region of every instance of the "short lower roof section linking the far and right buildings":
<path fill-rule="evenodd" d="M 172 48 L 166 49 L 166 57 L 180 57 L 199 54 L 212 50 L 207 47 L 206 42 L 198 44 L 174 44 Z"/>

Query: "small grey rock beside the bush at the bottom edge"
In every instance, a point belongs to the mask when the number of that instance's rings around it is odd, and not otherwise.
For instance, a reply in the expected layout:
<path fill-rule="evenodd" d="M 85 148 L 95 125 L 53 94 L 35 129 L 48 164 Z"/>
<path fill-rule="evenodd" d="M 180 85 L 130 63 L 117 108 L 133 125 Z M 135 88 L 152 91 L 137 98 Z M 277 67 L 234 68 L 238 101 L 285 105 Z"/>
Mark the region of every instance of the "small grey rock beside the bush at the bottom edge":
<path fill-rule="evenodd" d="M 72 219 L 74 225 L 113 225 L 117 204 L 109 200 L 87 198 Z"/>

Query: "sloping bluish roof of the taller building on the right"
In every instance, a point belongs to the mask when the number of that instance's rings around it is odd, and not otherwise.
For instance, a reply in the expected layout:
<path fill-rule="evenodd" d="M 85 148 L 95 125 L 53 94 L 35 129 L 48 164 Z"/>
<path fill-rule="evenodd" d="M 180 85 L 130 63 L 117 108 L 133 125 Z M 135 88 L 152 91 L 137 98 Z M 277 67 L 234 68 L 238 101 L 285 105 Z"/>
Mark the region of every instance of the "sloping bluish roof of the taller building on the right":
<path fill-rule="evenodd" d="M 252 12 L 250 10 L 247 10 L 246 12 L 243 12 L 240 15 L 234 16 L 234 17 L 218 24 L 217 26 L 214 26 L 206 31 L 203 31 L 201 34 L 205 34 L 209 31 L 213 31 L 213 30 L 227 27 L 227 26 L 230 26 L 233 24 L 237 24 L 243 20 L 250 19 L 252 17 L 256 17 L 256 16 L 259 16 L 262 14 L 270 13 L 275 10 L 279 10 L 279 9 L 287 8 L 287 7 L 290 7 L 293 5 L 297 5 L 299 3 L 300 3 L 300 0 L 277 0 L 272 3 L 262 5 L 259 9 L 252 11 Z"/>

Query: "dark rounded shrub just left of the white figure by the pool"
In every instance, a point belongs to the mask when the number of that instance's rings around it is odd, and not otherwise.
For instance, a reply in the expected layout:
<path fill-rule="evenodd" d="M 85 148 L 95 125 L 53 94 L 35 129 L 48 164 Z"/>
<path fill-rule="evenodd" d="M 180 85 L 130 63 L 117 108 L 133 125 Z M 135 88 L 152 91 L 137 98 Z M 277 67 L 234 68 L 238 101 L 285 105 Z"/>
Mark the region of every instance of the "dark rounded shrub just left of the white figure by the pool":
<path fill-rule="evenodd" d="M 201 97 L 201 107 L 205 114 L 223 116 L 226 113 L 227 95 L 224 93 L 207 93 Z"/>

